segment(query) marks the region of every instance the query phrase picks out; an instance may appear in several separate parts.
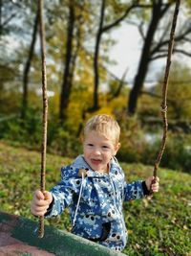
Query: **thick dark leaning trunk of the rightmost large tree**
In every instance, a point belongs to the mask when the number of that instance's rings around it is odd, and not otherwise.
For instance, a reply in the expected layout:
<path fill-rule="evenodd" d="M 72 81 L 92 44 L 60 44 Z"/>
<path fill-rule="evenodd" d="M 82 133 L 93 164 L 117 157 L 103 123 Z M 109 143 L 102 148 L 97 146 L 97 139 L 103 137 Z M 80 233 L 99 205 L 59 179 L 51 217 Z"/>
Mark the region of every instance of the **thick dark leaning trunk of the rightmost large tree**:
<path fill-rule="evenodd" d="M 165 8 L 162 8 L 162 1 L 159 0 L 153 6 L 152 18 L 148 27 L 148 31 L 144 40 L 144 45 L 142 48 L 142 53 L 138 65 L 138 74 L 134 81 L 133 88 L 129 95 L 128 101 L 128 113 L 130 115 L 135 114 L 137 105 L 138 105 L 138 96 L 143 87 L 143 82 L 145 80 L 149 62 L 151 61 L 151 47 L 154 39 L 154 35 L 157 32 L 159 20 L 163 16 L 163 14 L 168 10 L 169 5 L 166 5 Z"/>

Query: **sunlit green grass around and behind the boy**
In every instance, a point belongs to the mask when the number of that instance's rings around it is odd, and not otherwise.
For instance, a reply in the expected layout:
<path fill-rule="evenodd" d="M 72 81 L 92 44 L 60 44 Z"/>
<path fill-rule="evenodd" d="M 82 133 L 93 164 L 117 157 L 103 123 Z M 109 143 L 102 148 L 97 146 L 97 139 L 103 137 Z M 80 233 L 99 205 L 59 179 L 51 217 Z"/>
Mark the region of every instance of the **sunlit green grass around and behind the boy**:
<path fill-rule="evenodd" d="M 60 167 L 71 161 L 47 155 L 47 190 L 59 180 Z M 0 163 L 0 210 L 34 220 L 30 203 L 32 192 L 40 183 L 40 153 L 0 142 Z M 150 166 L 124 163 L 121 166 L 129 182 L 152 175 Z M 159 169 L 159 178 L 158 195 L 124 204 L 129 240 L 123 253 L 191 256 L 191 175 Z M 69 231 L 68 211 L 46 223 Z"/>

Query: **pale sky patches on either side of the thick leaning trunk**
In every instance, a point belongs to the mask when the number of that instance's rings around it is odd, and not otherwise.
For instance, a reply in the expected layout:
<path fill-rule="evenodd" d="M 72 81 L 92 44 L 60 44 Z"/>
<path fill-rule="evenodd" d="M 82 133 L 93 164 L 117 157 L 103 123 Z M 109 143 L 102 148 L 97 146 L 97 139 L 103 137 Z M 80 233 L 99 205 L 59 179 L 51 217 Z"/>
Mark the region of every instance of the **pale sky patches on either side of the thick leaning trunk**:
<path fill-rule="evenodd" d="M 132 84 L 134 81 L 138 61 L 140 58 L 142 39 L 138 33 L 138 29 L 134 25 L 122 24 L 117 30 L 111 34 L 112 38 L 117 40 L 116 45 L 110 51 L 110 58 L 117 61 L 116 65 L 110 65 L 109 70 L 121 79 L 124 71 L 128 68 L 126 81 Z M 147 85 L 152 85 L 156 81 L 157 73 L 163 70 L 166 63 L 165 58 L 153 61 L 150 65 L 150 72 L 147 76 Z"/>

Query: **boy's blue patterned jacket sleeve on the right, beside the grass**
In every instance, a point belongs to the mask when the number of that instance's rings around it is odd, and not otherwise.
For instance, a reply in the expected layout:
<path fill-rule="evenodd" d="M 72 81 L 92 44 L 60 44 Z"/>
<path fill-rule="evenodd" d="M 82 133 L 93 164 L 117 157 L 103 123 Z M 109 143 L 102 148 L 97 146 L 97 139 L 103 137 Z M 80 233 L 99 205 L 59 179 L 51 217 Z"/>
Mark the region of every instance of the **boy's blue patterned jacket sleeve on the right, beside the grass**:
<path fill-rule="evenodd" d="M 142 187 L 142 181 L 134 181 L 127 184 L 124 182 L 124 201 L 144 198 L 144 190 Z"/>

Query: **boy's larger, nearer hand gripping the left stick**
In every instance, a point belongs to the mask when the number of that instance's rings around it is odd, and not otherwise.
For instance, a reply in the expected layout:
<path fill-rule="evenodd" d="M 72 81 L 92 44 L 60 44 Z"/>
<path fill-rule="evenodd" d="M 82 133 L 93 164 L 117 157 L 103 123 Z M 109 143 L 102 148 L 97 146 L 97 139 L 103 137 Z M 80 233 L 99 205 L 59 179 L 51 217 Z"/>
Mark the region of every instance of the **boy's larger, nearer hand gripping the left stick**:
<path fill-rule="evenodd" d="M 45 191 L 43 194 L 40 190 L 36 190 L 31 203 L 32 214 L 35 216 L 44 216 L 52 201 L 53 196 L 50 192 Z"/>

